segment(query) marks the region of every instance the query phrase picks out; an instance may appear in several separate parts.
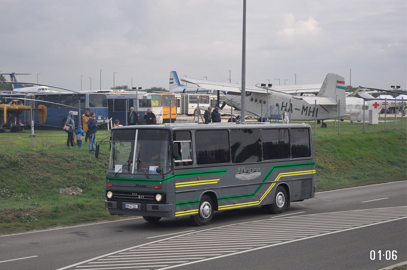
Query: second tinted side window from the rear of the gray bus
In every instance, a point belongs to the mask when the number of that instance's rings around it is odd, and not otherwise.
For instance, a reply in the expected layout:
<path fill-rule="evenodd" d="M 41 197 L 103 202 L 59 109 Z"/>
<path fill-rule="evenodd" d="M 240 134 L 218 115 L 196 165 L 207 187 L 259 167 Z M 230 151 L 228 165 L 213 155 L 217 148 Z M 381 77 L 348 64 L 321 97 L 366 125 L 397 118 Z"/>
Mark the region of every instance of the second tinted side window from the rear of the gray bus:
<path fill-rule="evenodd" d="M 264 160 L 290 158 L 288 129 L 263 129 L 261 139 Z"/>

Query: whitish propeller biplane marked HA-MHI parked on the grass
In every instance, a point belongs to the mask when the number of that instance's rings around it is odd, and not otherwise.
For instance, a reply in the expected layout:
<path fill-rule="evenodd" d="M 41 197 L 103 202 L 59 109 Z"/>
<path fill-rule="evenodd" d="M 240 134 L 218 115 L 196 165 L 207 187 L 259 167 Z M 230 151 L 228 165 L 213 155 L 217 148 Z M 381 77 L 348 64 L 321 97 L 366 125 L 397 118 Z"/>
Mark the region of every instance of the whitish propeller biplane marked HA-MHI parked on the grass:
<path fill-rule="evenodd" d="M 234 107 L 237 111 L 241 111 L 241 85 L 193 78 L 182 78 L 181 80 L 194 83 L 202 88 L 226 91 L 226 104 Z M 317 86 L 317 84 L 304 86 L 291 85 L 285 88 L 286 91 L 291 93 L 304 93 L 315 91 Z M 293 121 L 324 121 L 326 119 L 338 118 L 338 116 L 349 116 L 346 114 L 345 79 L 337 74 L 328 73 L 326 75 L 324 83 L 320 86 L 316 96 L 298 96 L 273 89 L 272 87 L 249 85 L 245 89 L 246 117 L 260 119 L 264 117 L 267 111 L 267 98 L 268 105 L 271 108 L 267 115 L 271 116 L 271 118 L 280 118 L 280 115 L 286 108 L 291 113 L 290 120 Z M 238 115 L 236 111 L 232 112 L 232 114 Z M 323 123 L 323 126 L 326 126 L 326 123 Z"/>

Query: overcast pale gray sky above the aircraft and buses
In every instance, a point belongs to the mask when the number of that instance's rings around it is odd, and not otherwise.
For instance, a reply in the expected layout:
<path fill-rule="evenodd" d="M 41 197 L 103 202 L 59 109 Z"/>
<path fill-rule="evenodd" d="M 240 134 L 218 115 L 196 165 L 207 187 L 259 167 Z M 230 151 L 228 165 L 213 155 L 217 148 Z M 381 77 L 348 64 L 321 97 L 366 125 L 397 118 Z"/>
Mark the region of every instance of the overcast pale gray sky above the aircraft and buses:
<path fill-rule="evenodd" d="M 405 0 L 247 0 L 246 85 L 322 83 L 406 89 Z M 2 1 L 0 70 L 77 91 L 241 82 L 243 1 Z M 101 78 L 100 78 L 100 70 Z M 9 79 L 9 78 L 8 78 Z"/>

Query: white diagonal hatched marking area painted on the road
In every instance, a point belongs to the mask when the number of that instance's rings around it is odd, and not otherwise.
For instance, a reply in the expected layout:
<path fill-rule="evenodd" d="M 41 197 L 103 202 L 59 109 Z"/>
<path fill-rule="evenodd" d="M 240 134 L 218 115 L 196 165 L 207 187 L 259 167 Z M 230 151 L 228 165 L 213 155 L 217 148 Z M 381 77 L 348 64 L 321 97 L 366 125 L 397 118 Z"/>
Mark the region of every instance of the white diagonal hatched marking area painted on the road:
<path fill-rule="evenodd" d="M 265 220 L 185 233 L 119 250 L 58 270 L 164 270 L 403 218 L 407 218 L 405 206 L 302 216 L 274 216 Z"/>

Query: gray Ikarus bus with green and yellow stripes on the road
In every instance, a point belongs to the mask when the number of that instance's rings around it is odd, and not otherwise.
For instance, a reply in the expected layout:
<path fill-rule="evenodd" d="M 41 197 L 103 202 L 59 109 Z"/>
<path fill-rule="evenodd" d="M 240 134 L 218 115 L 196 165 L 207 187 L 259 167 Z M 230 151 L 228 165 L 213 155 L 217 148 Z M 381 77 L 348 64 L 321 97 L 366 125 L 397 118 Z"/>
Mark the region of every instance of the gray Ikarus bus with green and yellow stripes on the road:
<path fill-rule="evenodd" d="M 112 129 L 105 206 L 111 215 L 191 216 L 260 205 L 282 213 L 315 196 L 308 124 L 166 124 Z"/>

